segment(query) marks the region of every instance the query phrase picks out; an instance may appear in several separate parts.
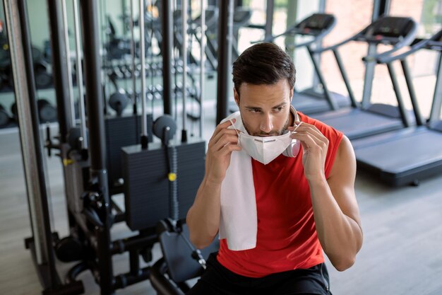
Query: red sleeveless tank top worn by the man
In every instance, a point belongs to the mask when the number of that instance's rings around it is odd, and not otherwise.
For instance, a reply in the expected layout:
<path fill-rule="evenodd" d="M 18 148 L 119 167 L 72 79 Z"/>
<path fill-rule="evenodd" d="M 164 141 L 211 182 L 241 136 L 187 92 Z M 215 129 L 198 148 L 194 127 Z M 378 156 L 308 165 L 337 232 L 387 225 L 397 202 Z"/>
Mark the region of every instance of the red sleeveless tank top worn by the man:
<path fill-rule="evenodd" d="M 325 159 L 328 178 L 342 133 L 301 112 L 299 115 L 302 122 L 315 125 L 329 140 Z M 258 212 L 256 248 L 232 251 L 222 239 L 217 260 L 230 271 L 264 277 L 324 262 L 301 155 L 302 151 L 296 158 L 280 155 L 267 165 L 251 160 Z"/>

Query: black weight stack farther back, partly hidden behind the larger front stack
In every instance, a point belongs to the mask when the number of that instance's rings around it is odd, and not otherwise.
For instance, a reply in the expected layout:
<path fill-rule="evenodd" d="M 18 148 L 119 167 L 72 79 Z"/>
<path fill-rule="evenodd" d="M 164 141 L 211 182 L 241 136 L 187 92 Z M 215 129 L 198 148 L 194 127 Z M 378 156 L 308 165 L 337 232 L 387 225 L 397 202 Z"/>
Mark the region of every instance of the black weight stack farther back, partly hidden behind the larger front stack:
<path fill-rule="evenodd" d="M 148 114 L 148 130 L 152 130 L 152 115 Z M 110 195 L 123 192 L 123 168 L 121 166 L 121 148 L 140 144 L 141 115 L 107 117 L 104 120 L 107 147 L 107 173 Z M 152 142 L 152 132 L 148 132 L 148 141 Z"/>

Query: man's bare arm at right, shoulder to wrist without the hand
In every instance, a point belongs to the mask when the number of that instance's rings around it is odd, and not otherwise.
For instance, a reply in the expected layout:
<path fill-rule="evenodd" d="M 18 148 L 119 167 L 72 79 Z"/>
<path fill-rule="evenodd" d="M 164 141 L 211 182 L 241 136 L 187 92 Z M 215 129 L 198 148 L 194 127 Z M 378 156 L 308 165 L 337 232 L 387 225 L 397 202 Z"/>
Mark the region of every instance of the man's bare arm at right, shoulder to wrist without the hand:
<path fill-rule="evenodd" d="M 340 271 L 354 264 L 362 247 L 359 208 L 354 194 L 356 160 L 350 140 L 343 137 L 328 180 L 309 180 L 319 241 Z"/>

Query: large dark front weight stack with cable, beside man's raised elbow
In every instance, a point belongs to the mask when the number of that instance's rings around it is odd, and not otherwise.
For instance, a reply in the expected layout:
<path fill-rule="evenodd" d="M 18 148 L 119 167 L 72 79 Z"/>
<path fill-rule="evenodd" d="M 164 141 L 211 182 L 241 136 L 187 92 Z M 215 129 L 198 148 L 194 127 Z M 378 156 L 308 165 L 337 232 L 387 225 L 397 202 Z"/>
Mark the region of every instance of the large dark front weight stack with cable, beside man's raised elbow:
<path fill-rule="evenodd" d="M 172 143 L 177 149 L 179 219 L 186 218 L 204 177 L 205 141 L 191 139 Z M 160 143 L 123 148 L 124 204 L 126 223 L 133 231 L 156 226 L 172 216 L 167 179 L 167 158 Z"/>

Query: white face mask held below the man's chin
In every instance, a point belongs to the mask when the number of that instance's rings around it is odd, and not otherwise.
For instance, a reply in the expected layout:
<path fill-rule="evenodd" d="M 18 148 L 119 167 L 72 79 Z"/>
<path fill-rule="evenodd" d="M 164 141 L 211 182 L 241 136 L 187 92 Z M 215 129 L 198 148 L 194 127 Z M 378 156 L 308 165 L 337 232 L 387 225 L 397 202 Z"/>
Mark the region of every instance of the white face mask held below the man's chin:
<path fill-rule="evenodd" d="M 301 124 L 302 122 L 299 125 Z M 280 154 L 289 157 L 297 156 L 301 143 L 297 139 L 291 139 L 290 135 L 292 132 L 275 137 L 253 137 L 241 132 L 238 133 L 238 145 L 256 161 L 267 165 Z"/>

